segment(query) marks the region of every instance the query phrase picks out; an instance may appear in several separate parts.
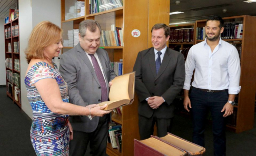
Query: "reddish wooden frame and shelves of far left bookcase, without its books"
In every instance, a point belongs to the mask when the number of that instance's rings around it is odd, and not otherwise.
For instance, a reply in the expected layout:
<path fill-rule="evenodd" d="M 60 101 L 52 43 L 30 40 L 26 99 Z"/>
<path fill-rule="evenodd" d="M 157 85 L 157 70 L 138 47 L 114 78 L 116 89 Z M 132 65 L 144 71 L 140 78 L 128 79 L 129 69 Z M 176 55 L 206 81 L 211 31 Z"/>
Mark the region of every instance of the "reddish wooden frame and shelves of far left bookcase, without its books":
<path fill-rule="evenodd" d="M 18 25 L 18 20 L 19 20 L 18 18 L 15 18 L 11 22 L 6 23 L 4 25 L 4 29 L 12 28 L 12 26 Z M 5 59 L 6 58 L 11 58 L 11 60 L 12 60 L 12 69 L 9 68 L 9 67 L 6 67 L 6 70 L 11 70 L 12 74 L 17 73 L 18 75 L 20 75 L 19 74 L 20 71 L 14 69 L 14 59 L 20 59 L 19 53 L 14 53 L 14 42 L 19 41 L 19 33 L 18 33 L 18 35 L 13 36 L 13 30 L 11 29 L 11 37 L 6 38 L 4 36 L 4 38 L 5 38 L 5 51 L 6 51 L 5 52 Z M 8 44 L 9 43 L 11 43 L 12 52 L 7 52 L 8 51 Z M 19 45 L 17 45 L 17 46 L 19 46 Z M 19 49 L 19 47 L 18 47 L 18 49 Z M 20 67 L 20 64 L 19 64 L 19 67 Z M 9 81 L 7 79 L 7 75 L 6 75 L 6 94 L 7 94 L 8 97 L 10 97 L 13 100 L 14 103 L 16 103 L 21 108 L 21 102 L 20 101 L 18 102 L 18 101 L 15 100 L 14 86 L 16 86 L 16 85 L 13 83 L 13 81 L 14 80 L 12 80 L 12 82 Z M 8 88 L 7 83 L 11 83 L 12 84 L 12 88 L 11 88 L 12 89 L 12 95 L 7 90 L 7 88 Z M 21 88 L 19 88 L 19 91 L 21 91 Z M 20 93 L 20 95 L 21 95 L 21 93 Z"/>

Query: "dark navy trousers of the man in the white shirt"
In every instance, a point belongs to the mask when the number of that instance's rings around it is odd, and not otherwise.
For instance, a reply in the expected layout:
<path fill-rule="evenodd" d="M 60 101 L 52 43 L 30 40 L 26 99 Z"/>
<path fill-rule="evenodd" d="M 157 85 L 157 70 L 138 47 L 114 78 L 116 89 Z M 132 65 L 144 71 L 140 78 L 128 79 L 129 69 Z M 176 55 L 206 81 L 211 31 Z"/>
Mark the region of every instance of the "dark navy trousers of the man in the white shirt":
<path fill-rule="evenodd" d="M 210 110 L 213 127 L 213 147 L 214 155 L 225 155 L 226 153 L 226 137 L 225 124 L 221 112 L 229 97 L 228 91 L 223 92 L 205 92 L 198 88 L 192 87 L 190 100 L 193 116 L 193 142 L 204 146 L 204 130 L 206 116 Z"/>

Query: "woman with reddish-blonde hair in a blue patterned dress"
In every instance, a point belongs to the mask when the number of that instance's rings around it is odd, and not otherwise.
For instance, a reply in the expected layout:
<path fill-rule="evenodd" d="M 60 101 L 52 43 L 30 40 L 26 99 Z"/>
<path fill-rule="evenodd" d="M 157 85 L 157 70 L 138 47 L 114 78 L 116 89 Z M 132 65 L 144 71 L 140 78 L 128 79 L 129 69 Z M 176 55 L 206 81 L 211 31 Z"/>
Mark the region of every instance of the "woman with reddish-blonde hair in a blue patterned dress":
<path fill-rule="evenodd" d="M 25 86 L 33 111 L 31 142 L 37 155 L 68 155 L 68 142 L 73 138 L 69 115 L 102 117 L 110 113 L 102 110 L 106 105 L 68 103 L 67 84 L 52 62 L 63 47 L 61 34 L 60 27 L 41 22 L 33 29 L 25 52 Z"/>

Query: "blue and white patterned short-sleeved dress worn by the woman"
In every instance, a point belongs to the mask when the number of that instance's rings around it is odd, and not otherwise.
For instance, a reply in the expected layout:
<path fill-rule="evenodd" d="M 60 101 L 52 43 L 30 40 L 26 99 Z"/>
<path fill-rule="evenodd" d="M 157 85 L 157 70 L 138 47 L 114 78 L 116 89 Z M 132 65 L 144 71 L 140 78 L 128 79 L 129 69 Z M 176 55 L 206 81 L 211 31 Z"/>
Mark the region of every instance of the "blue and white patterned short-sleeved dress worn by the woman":
<path fill-rule="evenodd" d="M 27 98 L 33 111 L 30 136 L 36 155 L 68 155 L 70 140 L 70 131 L 67 126 L 68 115 L 60 115 L 48 109 L 36 87 L 32 86 L 41 79 L 55 79 L 60 88 L 62 100 L 68 102 L 67 84 L 56 64 L 54 67 L 52 68 L 44 62 L 36 63 L 29 69 L 25 77 Z"/>

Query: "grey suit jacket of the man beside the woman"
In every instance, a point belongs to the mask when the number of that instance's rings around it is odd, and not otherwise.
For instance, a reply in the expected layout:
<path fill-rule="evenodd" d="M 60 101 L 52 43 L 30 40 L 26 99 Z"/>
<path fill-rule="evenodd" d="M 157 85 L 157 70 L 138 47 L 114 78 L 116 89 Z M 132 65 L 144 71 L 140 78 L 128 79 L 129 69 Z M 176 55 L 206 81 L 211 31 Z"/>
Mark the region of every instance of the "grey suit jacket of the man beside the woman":
<path fill-rule="evenodd" d="M 115 77 L 114 71 L 111 70 L 109 56 L 101 48 L 98 48 L 96 53 L 107 81 L 107 90 L 109 90 L 108 83 Z M 67 82 L 68 96 L 71 103 L 78 106 L 87 106 L 101 102 L 100 82 L 92 63 L 80 44 L 61 55 L 60 72 Z M 76 131 L 93 132 L 98 125 L 99 117 L 90 120 L 83 116 L 71 116 L 70 122 Z"/>

